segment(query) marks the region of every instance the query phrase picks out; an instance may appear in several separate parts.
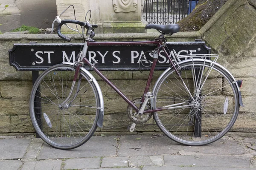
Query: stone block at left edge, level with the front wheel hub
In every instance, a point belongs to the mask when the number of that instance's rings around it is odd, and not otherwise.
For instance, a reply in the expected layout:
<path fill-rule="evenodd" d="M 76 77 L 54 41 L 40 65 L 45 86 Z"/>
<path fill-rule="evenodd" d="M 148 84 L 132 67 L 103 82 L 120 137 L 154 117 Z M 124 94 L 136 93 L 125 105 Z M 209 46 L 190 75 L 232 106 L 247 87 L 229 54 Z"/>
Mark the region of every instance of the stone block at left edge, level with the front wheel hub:
<path fill-rule="evenodd" d="M 0 108 L 0 115 L 28 115 L 29 101 L 11 101 L 1 98 Z"/>

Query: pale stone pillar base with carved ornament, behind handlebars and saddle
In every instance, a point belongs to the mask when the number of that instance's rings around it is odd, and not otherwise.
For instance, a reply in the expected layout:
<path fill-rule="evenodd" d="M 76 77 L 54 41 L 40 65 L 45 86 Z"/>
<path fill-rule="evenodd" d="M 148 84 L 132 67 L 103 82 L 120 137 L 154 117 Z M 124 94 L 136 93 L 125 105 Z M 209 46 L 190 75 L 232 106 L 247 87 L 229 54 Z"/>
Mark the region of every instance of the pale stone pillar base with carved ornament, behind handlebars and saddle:
<path fill-rule="evenodd" d="M 96 33 L 145 32 L 141 22 L 142 0 L 56 0 L 58 15 L 72 4 L 77 20 L 84 20 L 86 12 L 92 11 L 90 23 L 99 26 Z M 72 11 L 66 11 L 61 19 L 73 19 Z"/>

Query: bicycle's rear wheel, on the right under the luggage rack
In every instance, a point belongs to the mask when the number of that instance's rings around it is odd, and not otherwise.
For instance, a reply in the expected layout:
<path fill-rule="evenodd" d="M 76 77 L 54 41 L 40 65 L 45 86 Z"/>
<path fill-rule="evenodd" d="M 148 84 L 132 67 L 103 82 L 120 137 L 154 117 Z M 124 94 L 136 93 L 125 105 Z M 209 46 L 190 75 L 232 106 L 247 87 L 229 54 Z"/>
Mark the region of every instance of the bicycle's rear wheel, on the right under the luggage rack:
<path fill-rule="evenodd" d="M 153 109 L 160 130 L 174 141 L 191 146 L 220 139 L 239 113 L 238 88 L 224 68 L 204 60 L 180 65 L 183 82 L 172 68 L 154 87 Z M 167 110 L 168 108 L 168 110 Z"/>

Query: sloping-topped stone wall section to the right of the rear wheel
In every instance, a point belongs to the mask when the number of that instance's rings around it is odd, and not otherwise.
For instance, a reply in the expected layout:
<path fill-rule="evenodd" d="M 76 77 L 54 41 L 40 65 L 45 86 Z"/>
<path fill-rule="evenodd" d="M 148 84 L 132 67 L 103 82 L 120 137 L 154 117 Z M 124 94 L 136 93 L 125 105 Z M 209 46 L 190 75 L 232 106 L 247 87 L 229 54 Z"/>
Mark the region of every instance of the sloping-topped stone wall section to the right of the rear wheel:
<path fill-rule="evenodd" d="M 244 108 L 233 132 L 256 136 L 256 1 L 229 0 L 199 31 L 212 48 L 220 55 L 218 62 L 238 79 L 243 80 L 240 88 Z"/>

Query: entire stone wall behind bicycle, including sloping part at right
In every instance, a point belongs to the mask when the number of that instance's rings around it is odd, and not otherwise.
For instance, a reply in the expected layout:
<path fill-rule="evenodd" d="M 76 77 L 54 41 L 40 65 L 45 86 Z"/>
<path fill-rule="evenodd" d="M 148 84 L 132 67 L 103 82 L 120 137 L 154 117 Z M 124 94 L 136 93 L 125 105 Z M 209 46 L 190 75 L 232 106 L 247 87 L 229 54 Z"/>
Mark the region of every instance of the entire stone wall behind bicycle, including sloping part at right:
<path fill-rule="evenodd" d="M 203 38 L 212 53 L 220 55 L 218 62 L 227 67 L 236 79 L 243 79 L 241 93 L 244 108 L 230 134 L 240 136 L 256 136 L 256 3 L 253 0 L 229 0 L 218 13 L 198 32 L 179 32 L 169 37 L 169 41 L 194 41 Z M 95 40 L 152 40 L 157 33 L 150 34 L 96 34 Z M 73 42 L 81 42 L 76 35 Z M 0 133 L 20 134 L 33 133 L 34 129 L 29 118 L 29 95 L 32 89 L 30 72 L 17 72 L 9 66 L 8 50 L 13 43 L 63 43 L 57 35 L 0 35 Z M 130 99 L 138 98 L 143 93 L 148 72 L 143 71 L 106 71 L 108 78 Z M 161 74 L 154 74 L 153 84 Z M 131 125 L 126 116 L 127 104 L 117 96 L 105 82 L 99 80 L 105 100 L 104 127 L 96 134 L 152 134 L 159 133 L 156 125 L 137 126 L 136 132 L 128 132 Z M 134 91 L 135 87 L 136 91 Z M 118 101 L 118 103 L 116 102 Z M 153 124 L 153 120 L 148 124 Z"/>

